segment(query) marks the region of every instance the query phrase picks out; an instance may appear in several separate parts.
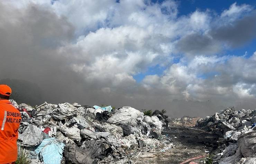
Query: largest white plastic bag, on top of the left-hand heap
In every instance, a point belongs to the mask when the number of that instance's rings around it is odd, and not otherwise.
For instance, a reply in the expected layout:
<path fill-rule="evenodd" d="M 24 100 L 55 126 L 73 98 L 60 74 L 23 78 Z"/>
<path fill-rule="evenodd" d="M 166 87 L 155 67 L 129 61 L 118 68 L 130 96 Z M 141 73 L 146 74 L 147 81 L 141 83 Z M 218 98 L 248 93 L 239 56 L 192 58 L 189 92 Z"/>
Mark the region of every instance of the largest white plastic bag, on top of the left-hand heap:
<path fill-rule="evenodd" d="M 143 113 L 132 107 L 124 106 L 116 110 L 116 113 L 110 117 L 107 122 L 110 124 L 124 125 L 129 124 L 132 119 L 138 117 L 143 118 Z"/>

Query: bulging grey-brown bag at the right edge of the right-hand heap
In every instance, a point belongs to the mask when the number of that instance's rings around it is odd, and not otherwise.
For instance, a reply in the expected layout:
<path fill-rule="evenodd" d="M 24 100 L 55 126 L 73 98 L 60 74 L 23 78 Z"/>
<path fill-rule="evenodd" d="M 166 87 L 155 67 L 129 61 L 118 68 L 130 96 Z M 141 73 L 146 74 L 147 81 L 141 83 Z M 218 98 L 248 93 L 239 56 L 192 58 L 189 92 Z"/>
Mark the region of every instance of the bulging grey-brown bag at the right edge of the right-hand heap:
<path fill-rule="evenodd" d="M 252 156 L 256 153 L 256 131 L 239 135 L 237 143 L 244 157 Z"/>

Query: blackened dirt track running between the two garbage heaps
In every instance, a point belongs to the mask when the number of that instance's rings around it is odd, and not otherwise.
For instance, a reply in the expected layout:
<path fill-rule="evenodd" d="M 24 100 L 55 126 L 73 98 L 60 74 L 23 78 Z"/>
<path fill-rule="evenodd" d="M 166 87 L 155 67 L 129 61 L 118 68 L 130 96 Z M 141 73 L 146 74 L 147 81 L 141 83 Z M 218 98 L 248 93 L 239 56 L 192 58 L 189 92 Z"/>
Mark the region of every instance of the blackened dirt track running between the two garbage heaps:
<path fill-rule="evenodd" d="M 151 158 L 138 158 L 138 164 L 179 164 L 189 158 L 207 155 L 212 146 L 220 137 L 218 134 L 205 132 L 201 129 L 171 126 L 165 130 L 163 135 L 171 137 L 174 148 L 169 149 L 165 153 L 156 152 Z M 200 163 L 204 158 L 193 160 Z"/>

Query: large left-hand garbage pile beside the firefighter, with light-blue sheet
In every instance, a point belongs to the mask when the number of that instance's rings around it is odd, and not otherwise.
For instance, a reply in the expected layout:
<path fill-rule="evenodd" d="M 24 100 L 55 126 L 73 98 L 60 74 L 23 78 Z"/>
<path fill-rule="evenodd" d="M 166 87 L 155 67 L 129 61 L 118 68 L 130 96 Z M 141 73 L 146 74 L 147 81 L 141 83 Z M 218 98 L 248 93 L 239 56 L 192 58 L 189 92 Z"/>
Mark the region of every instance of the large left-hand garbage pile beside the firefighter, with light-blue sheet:
<path fill-rule="evenodd" d="M 133 163 L 142 154 L 172 148 L 170 139 L 161 135 L 168 126 L 165 117 L 144 116 L 139 110 L 124 106 L 81 106 L 80 104 L 44 103 L 36 108 L 18 105 L 22 122 L 19 150 L 25 150 L 36 164 Z"/>

